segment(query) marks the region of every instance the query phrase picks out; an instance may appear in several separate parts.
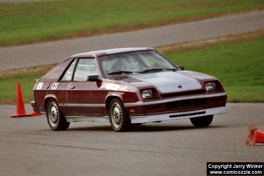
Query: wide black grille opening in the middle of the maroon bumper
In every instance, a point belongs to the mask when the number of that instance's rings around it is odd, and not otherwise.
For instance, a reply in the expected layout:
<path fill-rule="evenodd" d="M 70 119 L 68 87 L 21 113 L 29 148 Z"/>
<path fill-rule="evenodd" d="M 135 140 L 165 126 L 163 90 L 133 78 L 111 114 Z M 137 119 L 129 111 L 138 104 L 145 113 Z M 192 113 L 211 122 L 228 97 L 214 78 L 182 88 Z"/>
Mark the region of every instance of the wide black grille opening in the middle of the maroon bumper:
<path fill-rule="evenodd" d="M 181 109 L 181 108 L 190 108 L 195 106 L 203 106 L 207 104 L 208 98 L 197 98 L 190 100 L 180 100 L 174 102 L 164 103 L 166 109 Z"/>

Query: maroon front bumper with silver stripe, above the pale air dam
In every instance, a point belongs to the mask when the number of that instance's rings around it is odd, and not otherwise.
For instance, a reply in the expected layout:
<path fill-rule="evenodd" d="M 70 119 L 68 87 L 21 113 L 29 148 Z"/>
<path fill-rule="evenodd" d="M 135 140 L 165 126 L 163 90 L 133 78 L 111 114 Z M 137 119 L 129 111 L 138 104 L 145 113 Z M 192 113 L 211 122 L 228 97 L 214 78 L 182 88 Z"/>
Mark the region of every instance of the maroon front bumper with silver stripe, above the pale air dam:
<path fill-rule="evenodd" d="M 166 98 L 156 101 L 124 103 L 130 117 L 174 114 L 225 107 L 226 93 Z"/>

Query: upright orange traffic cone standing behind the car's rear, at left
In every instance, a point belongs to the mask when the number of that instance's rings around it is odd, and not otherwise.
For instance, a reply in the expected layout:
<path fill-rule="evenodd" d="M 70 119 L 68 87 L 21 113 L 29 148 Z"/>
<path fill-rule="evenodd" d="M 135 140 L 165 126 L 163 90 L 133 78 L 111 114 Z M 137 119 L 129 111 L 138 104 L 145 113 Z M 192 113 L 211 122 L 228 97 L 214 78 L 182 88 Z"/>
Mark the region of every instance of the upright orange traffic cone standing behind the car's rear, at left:
<path fill-rule="evenodd" d="M 21 91 L 20 83 L 17 83 L 17 93 L 16 93 L 16 114 L 10 115 L 10 117 L 26 117 L 29 116 L 25 112 L 23 95 Z"/>

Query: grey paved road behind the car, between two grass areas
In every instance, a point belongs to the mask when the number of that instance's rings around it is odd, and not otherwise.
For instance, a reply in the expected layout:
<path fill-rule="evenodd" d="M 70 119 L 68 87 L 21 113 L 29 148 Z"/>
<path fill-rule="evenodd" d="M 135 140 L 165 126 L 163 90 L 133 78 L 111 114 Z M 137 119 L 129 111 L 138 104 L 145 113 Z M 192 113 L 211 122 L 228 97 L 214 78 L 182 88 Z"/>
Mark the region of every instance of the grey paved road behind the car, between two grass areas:
<path fill-rule="evenodd" d="M 157 47 L 199 41 L 229 34 L 264 29 L 264 11 L 226 16 L 178 25 L 103 35 L 104 48 Z M 61 62 L 67 57 L 102 50 L 100 36 L 0 48 L 0 70 L 10 70 Z"/>

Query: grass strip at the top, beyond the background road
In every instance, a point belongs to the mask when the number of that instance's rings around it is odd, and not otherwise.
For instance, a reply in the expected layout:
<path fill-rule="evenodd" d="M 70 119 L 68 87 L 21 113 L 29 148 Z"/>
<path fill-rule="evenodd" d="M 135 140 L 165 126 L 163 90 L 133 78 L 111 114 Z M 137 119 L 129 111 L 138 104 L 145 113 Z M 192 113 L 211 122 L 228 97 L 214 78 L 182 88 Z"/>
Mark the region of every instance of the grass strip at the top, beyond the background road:
<path fill-rule="evenodd" d="M 0 46 L 140 29 L 263 8 L 263 0 L 1 3 Z"/>

